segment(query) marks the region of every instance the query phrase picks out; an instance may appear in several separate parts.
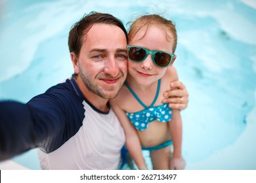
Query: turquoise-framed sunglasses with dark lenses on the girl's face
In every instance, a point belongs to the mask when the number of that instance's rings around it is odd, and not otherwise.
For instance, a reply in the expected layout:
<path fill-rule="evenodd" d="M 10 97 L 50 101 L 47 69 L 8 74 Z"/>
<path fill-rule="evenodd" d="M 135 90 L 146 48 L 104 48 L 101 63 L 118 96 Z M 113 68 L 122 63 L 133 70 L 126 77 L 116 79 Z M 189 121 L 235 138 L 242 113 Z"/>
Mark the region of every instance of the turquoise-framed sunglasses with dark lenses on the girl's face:
<path fill-rule="evenodd" d="M 151 54 L 154 64 L 161 68 L 173 65 L 173 59 L 175 58 L 175 54 L 171 54 L 169 52 L 148 50 L 141 46 L 130 44 L 127 44 L 127 54 L 128 58 L 135 63 L 144 61 L 148 54 Z"/>

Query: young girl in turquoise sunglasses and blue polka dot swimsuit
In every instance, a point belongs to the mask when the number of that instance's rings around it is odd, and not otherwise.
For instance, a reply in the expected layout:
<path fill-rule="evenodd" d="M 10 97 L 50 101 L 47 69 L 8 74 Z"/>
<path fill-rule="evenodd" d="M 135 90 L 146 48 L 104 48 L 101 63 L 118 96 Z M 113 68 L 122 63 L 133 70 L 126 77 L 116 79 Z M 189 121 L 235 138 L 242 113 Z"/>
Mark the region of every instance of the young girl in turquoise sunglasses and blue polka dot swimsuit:
<path fill-rule="evenodd" d="M 153 14 L 140 16 L 131 24 L 127 45 L 129 74 L 111 103 L 125 130 L 127 149 L 139 169 L 147 169 L 142 150 L 150 150 L 153 169 L 185 166 L 180 111 L 161 103 L 169 83 L 178 79 L 171 67 L 176 46 L 177 32 L 170 20 Z"/>

